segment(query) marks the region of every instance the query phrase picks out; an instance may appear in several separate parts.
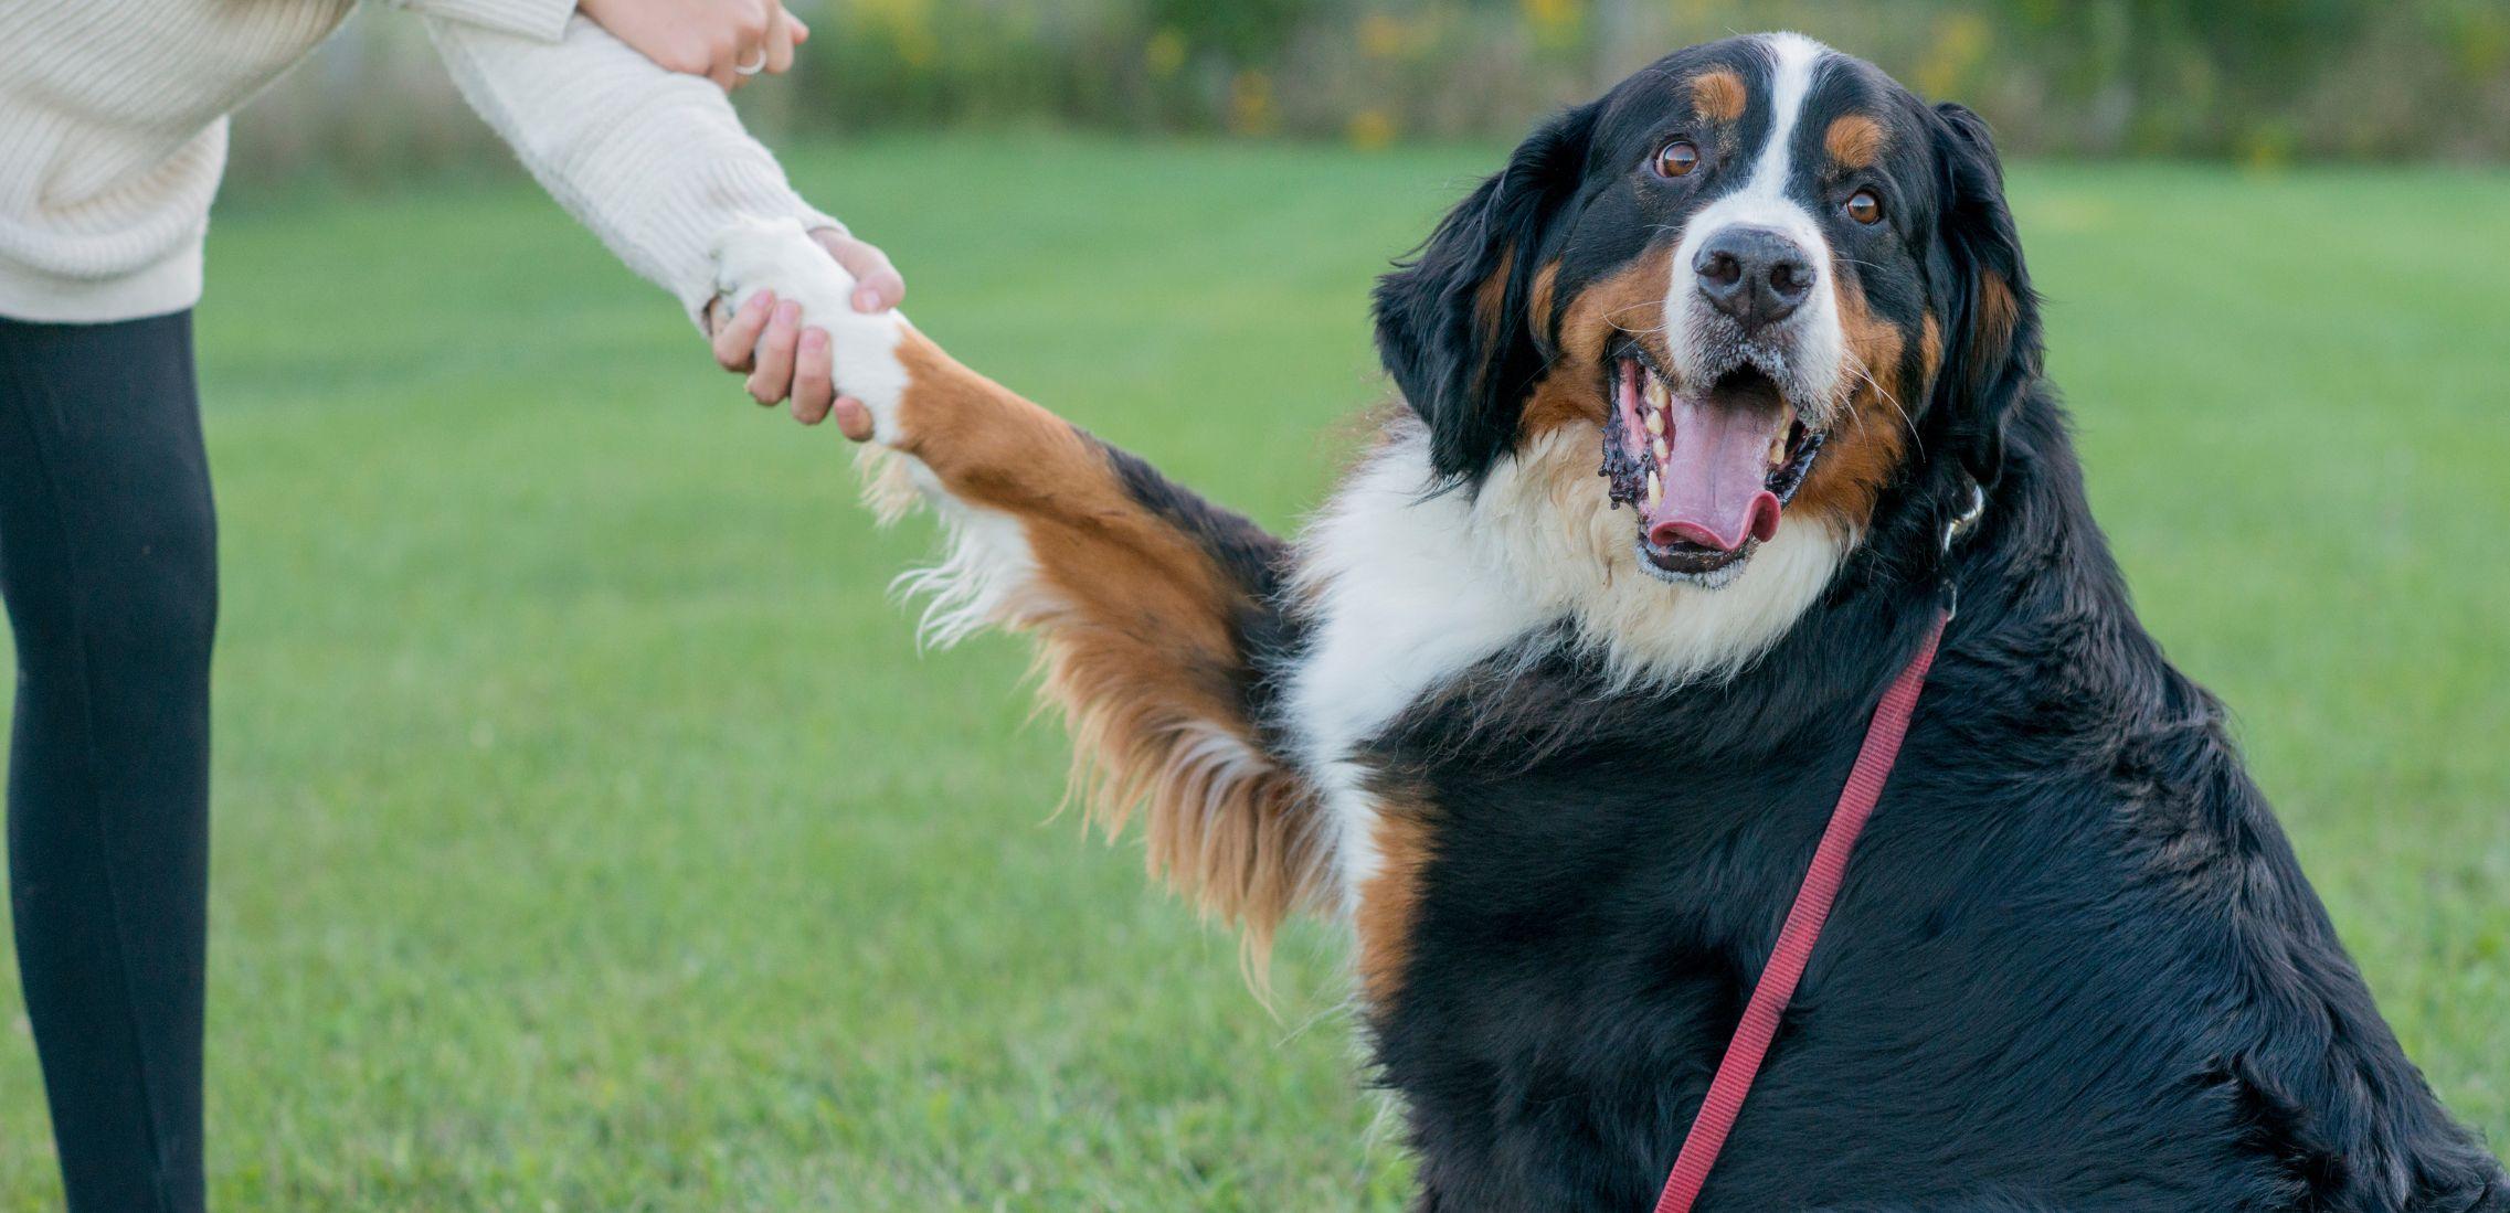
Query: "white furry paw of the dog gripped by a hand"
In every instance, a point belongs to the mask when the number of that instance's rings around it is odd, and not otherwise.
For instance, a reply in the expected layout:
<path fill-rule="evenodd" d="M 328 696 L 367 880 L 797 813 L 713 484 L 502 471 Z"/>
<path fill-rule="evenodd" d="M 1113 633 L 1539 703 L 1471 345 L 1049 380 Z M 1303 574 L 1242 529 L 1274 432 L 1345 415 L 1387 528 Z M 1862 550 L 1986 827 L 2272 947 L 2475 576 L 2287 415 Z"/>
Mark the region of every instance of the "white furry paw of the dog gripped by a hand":
<path fill-rule="evenodd" d="M 738 308 L 758 291 L 801 303 L 803 328 L 828 333 L 836 391 L 871 409 L 871 441 L 896 446 L 899 401 L 906 396 L 906 366 L 899 361 L 906 316 L 853 311 L 853 276 L 791 218 L 738 221 L 715 238 L 715 293 Z"/>

